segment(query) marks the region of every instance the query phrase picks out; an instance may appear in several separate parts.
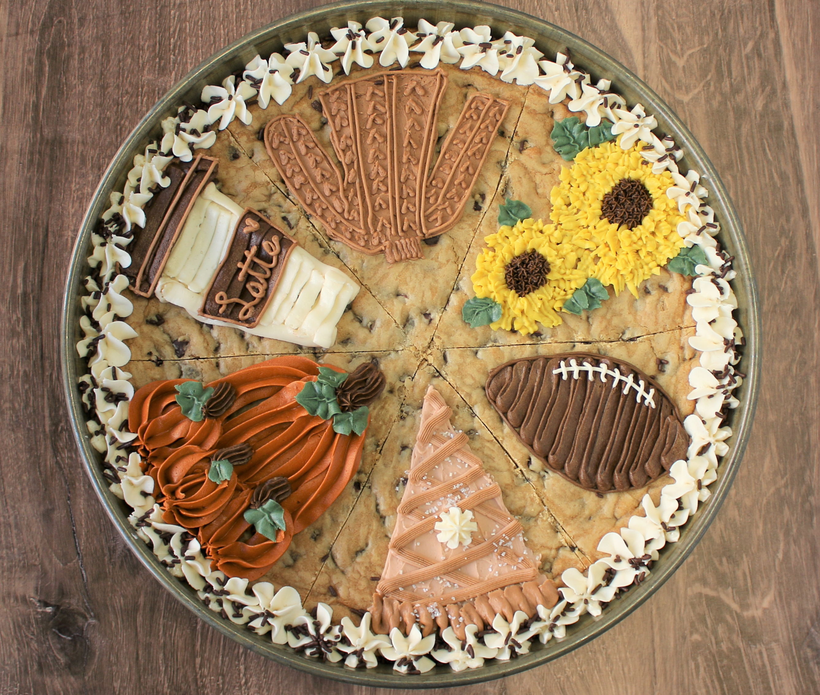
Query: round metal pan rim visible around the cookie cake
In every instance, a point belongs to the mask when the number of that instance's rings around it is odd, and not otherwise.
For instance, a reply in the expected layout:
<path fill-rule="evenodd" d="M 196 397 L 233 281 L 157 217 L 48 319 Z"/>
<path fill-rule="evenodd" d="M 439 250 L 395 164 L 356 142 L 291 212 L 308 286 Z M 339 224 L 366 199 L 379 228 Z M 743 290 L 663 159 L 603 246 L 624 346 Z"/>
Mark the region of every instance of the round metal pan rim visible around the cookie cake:
<path fill-rule="evenodd" d="M 269 638 L 259 637 L 240 629 L 230 621 L 222 620 L 209 611 L 198 601 L 194 590 L 169 575 L 148 546 L 137 538 L 134 529 L 127 521 L 128 510 L 125 503 L 108 490 L 107 481 L 103 478 L 103 468 L 100 465 L 100 455 L 89 443 L 80 402 L 80 391 L 77 388 L 77 378 L 85 372 L 84 364 L 77 356 L 75 343 L 83 337 L 79 327 L 81 314 L 79 298 L 84 293 L 81 281 L 89 272 L 85 259 L 91 248 L 91 233 L 96 220 L 108 205 L 109 193 L 114 189 L 121 189 L 125 183 L 125 176 L 130 169 L 134 154 L 142 152 L 149 141 L 161 136 L 160 121 L 174 114 L 181 102 L 197 102 L 203 86 L 220 84 L 225 75 L 243 68 L 257 53 L 267 56 L 271 52 L 282 52 L 284 43 L 303 41 L 308 31 L 316 31 L 320 36 L 326 36 L 329 34 L 330 27 L 344 26 L 348 20 L 358 20 L 364 24 L 373 16 L 403 16 L 405 25 L 408 26 L 415 26 L 417 20 L 421 18 L 433 23 L 440 20 L 454 21 L 457 28 L 490 25 L 494 36 L 500 36 L 506 30 L 512 30 L 516 34 L 524 34 L 535 39 L 536 48 L 548 57 L 553 56 L 558 50 L 568 48 L 576 65 L 593 75 L 593 83 L 601 77 L 612 79 L 614 91 L 621 93 L 630 104 L 642 103 L 647 112 L 654 114 L 658 119 L 659 129 L 666 134 L 672 134 L 681 144 L 686 152 L 681 169 L 694 168 L 702 175 L 702 180 L 710 191 L 709 204 L 714 208 L 717 220 L 721 223 L 722 231 L 719 239 L 723 248 L 735 257 L 734 264 L 738 271 L 738 277 L 732 284 L 739 302 L 736 320 L 746 337 L 741 366 L 747 378 L 740 388 L 740 393 L 737 394 L 740 398 L 740 407 L 731 412 L 729 424 L 734 436 L 729 443 L 730 451 L 723 458 L 717 471 L 717 481 L 710 486 L 712 496 L 699 507 L 695 516 L 683 527 L 680 541 L 667 545 L 663 549 L 660 560 L 653 566 L 649 578 L 640 586 L 631 588 L 619 601 L 609 604 L 598 620 L 594 620 L 589 615 L 582 616 L 576 625 L 567 629 L 567 638 L 561 642 L 552 640 L 546 645 L 541 645 L 536 641 L 531 653 L 526 656 L 512 661 L 488 661 L 484 668 L 466 670 L 461 673 L 454 673 L 445 665 L 437 667 L 429 675 L 421 676 L 400 675 L 389 665 L 379 665 L 376 669 L 371 670 L 349 670 L 340 663 L 323 663 L 294 653 L 287 647 L 278 647 L 271 644 Z M 726 189 L 712 163 L 686 126 L 658 95 L 630 70 L 626 70 L 590 43 L 586 43 L 558 26 L 496 5 L 467 2 L 467 0 L 335 2 L 274 22 L 215 53 L 175 84 L 157 102 L 157 105 L 148 111 L 143 120 L 139 121 L 128 139 L 122 144 L 94 193 L 71 257 L 62 311 L 62 377 L 71 425 L 77 445 L 80 447 L 84 468 L 100 501 L 103 502 L 107 515 L 111 517 L 112 522 L 125 538 L 125 542 L 148 571 L 201 620 L 205 620 L 222 634 L 254 652 L 313 675 L 372 687 L 444 688 L 480 683 L 512 675 L 545 664 L 547 661 L 552 661 L 558 656 L 581 647 L 582 644 L 589 642 L 590 639 L 602 634 L 619 620 L 628 616 L 657 591 L 661 584 L 672 575 L 672 572 L 681 565 L 717 514 L 740 466 L 740 459 L 749 440 L 759 383 L 759 332 L 758 295 L 754 284 L 754 274 L 749 264 L 749 251 L 740 229 L 740 220 L 731 205 Z"/>

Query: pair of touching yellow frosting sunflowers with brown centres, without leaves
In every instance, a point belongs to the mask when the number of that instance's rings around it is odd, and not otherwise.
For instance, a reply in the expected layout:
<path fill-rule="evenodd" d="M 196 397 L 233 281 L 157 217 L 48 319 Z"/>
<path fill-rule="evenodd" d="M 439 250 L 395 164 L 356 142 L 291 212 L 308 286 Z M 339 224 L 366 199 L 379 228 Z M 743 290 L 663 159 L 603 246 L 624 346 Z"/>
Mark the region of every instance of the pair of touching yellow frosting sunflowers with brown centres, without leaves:
<path fill-rule="evenodd" d="M 685 218 L 666 195 L 672 175 L 654 174 L 641 157 L 644 143 L 624 150 L 622 137 L 585 148 L 561 171 L 550 193 L 553 224 L 519 220 L 485 238 L 472 285 L 476 298 L 500 307 L 490 328 L 531 334 L 538 323 L 557 326 L 565 302 L 590 278 L 637 297 L 685 246 L 677 233 Z"/>

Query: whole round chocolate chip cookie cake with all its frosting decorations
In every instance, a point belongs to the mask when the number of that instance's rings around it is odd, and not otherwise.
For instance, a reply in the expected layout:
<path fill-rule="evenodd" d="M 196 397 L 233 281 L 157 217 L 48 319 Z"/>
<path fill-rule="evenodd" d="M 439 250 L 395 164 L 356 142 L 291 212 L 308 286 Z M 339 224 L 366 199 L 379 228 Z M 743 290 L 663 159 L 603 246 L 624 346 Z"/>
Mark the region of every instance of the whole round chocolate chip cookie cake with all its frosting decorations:
<path fill-rule="evenodd" d="M 412 677 L 563 639 L 708 499 L 743 334 L 640 103 L 488 26 L 349 21 L 162 120 L 77 351 L 139 538 L 222 620 Z"/>

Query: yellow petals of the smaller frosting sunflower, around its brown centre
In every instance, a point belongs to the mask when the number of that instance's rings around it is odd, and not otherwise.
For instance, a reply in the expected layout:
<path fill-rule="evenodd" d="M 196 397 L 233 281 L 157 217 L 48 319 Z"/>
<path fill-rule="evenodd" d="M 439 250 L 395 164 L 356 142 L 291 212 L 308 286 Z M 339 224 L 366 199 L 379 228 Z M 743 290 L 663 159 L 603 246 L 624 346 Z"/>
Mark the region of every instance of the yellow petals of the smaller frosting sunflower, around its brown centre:
<path fill-rule="evenodd" d="M 562 322 L 558 311 L 587 279 L 578 267 L 579 253 L 585 250 L 568 242 L 565 230 L 531 219 L 519 220 L 512 227 L 504 225 L 485 238 L 489 248 L 483 249 L 476 259 L 472 287 L 476 297 L 490 298 L 501 307 L 501 318 L 491 323 L 490 328 L 530 334 L 535 333 L 538 322 L 548 328 Z M 531 252 L 546 259 L 547 264 L 542 267 L 547 272 L 538 288 L 521 296 L 508 286 L 508 268 L 515 268 L 517 258 Z M 540 264 L 530 261 L 526 265 L 531 268 Z M 523 279 L 524 285 L 535 284 L 531 276 Z"/>

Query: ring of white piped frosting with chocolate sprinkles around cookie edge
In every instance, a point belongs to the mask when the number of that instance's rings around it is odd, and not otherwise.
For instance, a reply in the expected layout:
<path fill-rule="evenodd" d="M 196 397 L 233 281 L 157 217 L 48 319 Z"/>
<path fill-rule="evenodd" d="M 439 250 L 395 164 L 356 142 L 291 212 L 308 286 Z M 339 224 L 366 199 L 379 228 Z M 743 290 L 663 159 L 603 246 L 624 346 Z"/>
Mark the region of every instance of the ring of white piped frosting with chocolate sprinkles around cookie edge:
<path fill-rule="evenodd" d="M 89 294 L 81 298 L 85 313 L 80 327 L 85 337 L 77 350 L 89 364 L 89 374 L 79 381 L 84 406 L 93 416 L 87 422 L 90 443 L 104 457 L 104 473 L 112 493 L 133 507 L 129 520 L 139 538 L 153 546 L 154 554 L 171 575 L 184 577 L 212 611 L 235 625 L 247 625 L 257 634 L 270 633 L 273 643 L 288 643 L 307 656 L 328 661 L 344 659 L 345 665 L 353 668 L 375 666 L 377 652 L 394 661 L 395 670 L 403 673 L 432 669 L 435 661 L 427 654 L 448 663 L 453 670 L 476 668 L 485 659 L 506 660 L 529 652 L 530 642 L 536 637 L 542 643 L 553 637 L 563 638 L 566 626 L 585 612 L 600 616 L 604 604 L 649 574 L 647 565 L 658 559 L 658 551 L 678 540 L 681 525 L 695 514 L 700 502 L 708 499 L 708 485 L 717 479 L 718 458 L 728 452 L 726 440 L 731 436 L 731 428 L 721 426 L 719 412 L 739 405 L 732 392 L 743 381 L 736 371 L 740 361 L 736 348 L 743 343 L 743 334 L 732 317 L 737 302 L 729 285 L 736 271 L 731 269 L 732 259 L 717 251 L 713 237 L 719 225 L 713 210 L 703 202 L 708 191 L 699 183 L 699 174 L 689 170 L 681 175 L 677 166 L 683 156 L 681 148 L 670 136 L 659 139 L 652 132 L 657 120 L 647 116 L 640 104 L 627 111 L 624 99 L 608 92 L 609 80 L 600 79 L 593 85 L 590 75 L 576 70 L 567 56 L 558 53 L 554 62 L 540 60 L 543 53 L 535 48 L 533 39 L 507 32 L 493 40 L 486 26 L 456 31 L 449 22 L 434 26 L 421 20 L 417 31 L 412 32 L 404 29 L 400 17 L 376 17 L 367 22 L 366 29 L 349 22 L 346 29 L 334 28 L 331 34 L 336 43 L 330 49 L 323 48 L 317 34 L 311 32 L 306 42 L 285 46 L 287 57 L 278 53 L 267 60 L 255 57 L 246 66 L 239 86 L 235 76 L 230 75 L 221 86 L 203 89 L 205 108 L 192 112 L 180 107 L 177 116 L 163 120 L 162 142 L 153 143 L 144 154 L 134 157 L 134 168 L 123 193 L 112 193 L 112 206 L 103 213 L 101 234 L 92 234 L 93 252 L 88 259 L 89 265 L 98 269 L 99 281 L 93 276 L 86 278 Z M 252 116 L 246 102 L 252 98 L 257 98 L 263 108 L 271 99 L 284 103 L 290 96 L 296 70 L 297 84 L 309 75 L 329 83 L 335 76 L 330 64 L 337 59 L 349 73 L 353 62 L 364 68 L 374 66 L 376 55 L 381 67 L 396 62 L 407 66 L 411 52 L 423 53 L 421 66 L 427 69 L 435 68 L 440 61 L 461 61 L 464 70 L 480 66 L 504 82 L 537 84 L 549 91 L 552 103 L 571 98 L 569 110 L 585 112 L 587 125 L 598 125 L 604 118 L 612 122 L 613 134 L 624 134 L 622 148 L 630 148 L 638 139 L 645 142 L 642 154 L 653 164 L 654 172 L 668 169 L 675 181 L 667 195 L 678 202 L 679 210 L 687 217 L 678 226 L 679 234 L 687 247 L 697 244 L 703 248 L 708 260 L 706 265 L 697 266 L 699 276 L 687 297 L 695 319 L 695 337 L 690 338 L 690 345 L 700 352 L 700 366 L 690 373 L 693 390 L 689 398 L 696 401 L 695 414 L 686 418 L 684 426 L 692 440 L 688 460 L 676 461 L 670 470 L 675 483 L 663 487 L 658 506 L 649 494 L 645 495 L 642 506 L 646 516 L 632 516 L 626 528 L 601 539 L 598 549 L 608 557 L 590 566 L 586 575 L 576 569 L 563 572 L 565 586 L 559 589 L 562 600 L 552 609 L 538 606 L 538 615 L 531 620 L 519 611 L 512 623 L 496 616 L 495 633 L 485 635 L 483 640 L 468 627 L 467 639 L 462 642 L 448 628 L 442 638 L 449 649 L 435 649 L 434 635 L 422 638 L 417 628 L 407 636 L 399 629 L 389 636 L 374 635 L 369 613 L 358 627 L 347 618 L 341 625 L 332 625 L 330 606 L 320 603 L 314 619 L 304 611 L 294 588 L 283 587 L 275 592 L 271 584 L 257 582 L 248 594 L 247 579 L 228 579 L 221 571 L 212 570 L 196 538 L 180 526 L 162 522 L 153 497 L 153 479 L 144 475 L 139 454 L 128 452 L 136 435 L 121 429 L 134 395 L 131 375 L 123 370 L 130 361 L 130 349 L 124 341 L 137 334 L 119 320 L 130 316 L 133 306 L 123 295 L 128 279 L 117 274 L 117 267 L 130 265 L 125 247 L 133 238 L 132 225 L 145 223 L 143 207 L 152 197 L 149 189 L 168 185 L 162 175 L 171 161 L 168 155 L 190 161 L 193 150 L 210 148 L 216 142 L 212 125 L 225 129 L 235 118 L 250 124 Z M 510 647 L 511 643 L 517 647 Z"/>

